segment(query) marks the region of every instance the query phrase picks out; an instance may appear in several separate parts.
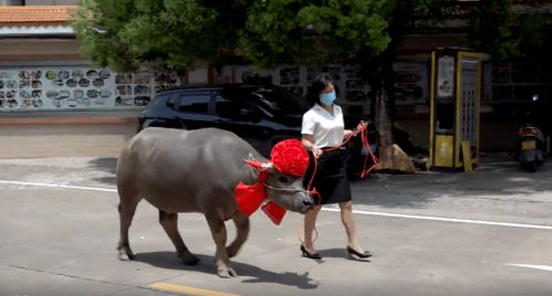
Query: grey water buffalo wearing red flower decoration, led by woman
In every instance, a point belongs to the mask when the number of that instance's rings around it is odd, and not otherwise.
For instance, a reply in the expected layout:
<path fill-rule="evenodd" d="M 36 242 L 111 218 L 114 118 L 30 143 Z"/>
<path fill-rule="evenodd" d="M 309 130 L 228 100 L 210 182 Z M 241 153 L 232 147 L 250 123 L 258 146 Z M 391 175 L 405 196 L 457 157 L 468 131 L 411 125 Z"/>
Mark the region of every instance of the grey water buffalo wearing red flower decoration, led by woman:
<path fill-rule="evenodd" d="M 199 260 L 190 253 L 178 232 L 178 213 L 204 213 L 217 245 L 218 275 L 236 276 L 229 258 L 238 253 L 248 237 L 249 216 L 239 211 L 233 190 L 240 182 L 258 182 L 259 170 L 244 161 L 251 156 L 269 163 L 263 169 L 268 172 L 264 182 L 270 201 L 300 213 L 312 208 L 312 197 L 304 190 L 301 177 L 280 172 L 247 141 L 230 131 L 150 127 L 134 136 L 123 148 L 116 170 L 121 199 L 119 258 L 134 258 L 128 229 L 138 202 L 145 199 L 159 210 L 159 222 L 185 264 L 196 264 Z M 227 247 L 225 221 L 229 219 L 236 223 L 237 237 Z"/>

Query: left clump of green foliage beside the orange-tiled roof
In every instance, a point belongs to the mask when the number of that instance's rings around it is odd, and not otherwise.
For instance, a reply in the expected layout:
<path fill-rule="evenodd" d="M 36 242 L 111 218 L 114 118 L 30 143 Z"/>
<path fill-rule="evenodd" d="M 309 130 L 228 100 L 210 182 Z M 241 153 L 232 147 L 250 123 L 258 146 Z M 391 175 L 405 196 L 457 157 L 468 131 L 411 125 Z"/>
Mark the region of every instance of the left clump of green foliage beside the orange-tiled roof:
<path fill-rule="evenodd" d="M 81 0 L 72 27 L 83 55 L 98 65 L 134 70 L 150 63 L 187 68 L 194 61 L 215 59 L 221 49 L 236 44 L 235 22 L 240 27 L 246 4 L 246 1 Z"/>

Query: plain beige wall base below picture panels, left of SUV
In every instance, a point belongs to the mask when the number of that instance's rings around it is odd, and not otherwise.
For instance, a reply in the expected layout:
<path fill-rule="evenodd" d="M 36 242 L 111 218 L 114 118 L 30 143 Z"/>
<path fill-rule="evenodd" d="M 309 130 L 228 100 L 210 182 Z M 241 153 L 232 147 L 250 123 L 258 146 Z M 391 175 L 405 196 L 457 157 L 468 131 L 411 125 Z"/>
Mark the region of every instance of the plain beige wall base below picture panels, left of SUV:
<path fill-rule="evenodd" d="M 115 157 L 136 131 L 137 112 L 2 114 L 0 158 Z"/>

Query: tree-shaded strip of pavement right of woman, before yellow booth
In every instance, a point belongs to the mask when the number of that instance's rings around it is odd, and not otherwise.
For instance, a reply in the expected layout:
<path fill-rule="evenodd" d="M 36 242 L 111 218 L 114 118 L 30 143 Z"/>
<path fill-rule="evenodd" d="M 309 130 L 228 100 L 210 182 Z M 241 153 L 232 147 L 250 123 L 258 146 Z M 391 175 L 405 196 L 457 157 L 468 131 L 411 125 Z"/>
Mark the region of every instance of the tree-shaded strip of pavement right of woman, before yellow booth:
<path fill-rule="evenodd" d="M 532 201 L 552 192 L 552 163 L 522 171 L 514 161 L 481 162 L 473 172 L 373 173 L 352 182 L 353 201 L 384 208 L 423 209 L 439 198 Z M 537 200 L 535 200 L 537 201 Z M 543 202 L 539 200 L 539 202 Z"/>

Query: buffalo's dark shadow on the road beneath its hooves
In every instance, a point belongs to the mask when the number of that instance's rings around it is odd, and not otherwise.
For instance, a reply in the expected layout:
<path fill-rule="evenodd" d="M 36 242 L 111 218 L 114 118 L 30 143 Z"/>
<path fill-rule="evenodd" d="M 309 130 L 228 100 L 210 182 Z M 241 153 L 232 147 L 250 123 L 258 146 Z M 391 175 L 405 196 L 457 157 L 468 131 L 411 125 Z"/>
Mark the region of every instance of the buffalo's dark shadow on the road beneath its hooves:
<path fill-rule="evenodd" d="M 136 254 L 135 261 L 146 263 L 156 267 L 179 269 L 189 272 L 201 272 L 216 276 L 215 257 L 208 255 L 198 255 L 201 262 L 198 265 L 184 265 L 175 255 L 174 252 L 148 252 Z M 274 283 L 287 286 L 295 286 L 301 289 L 314 289 L 317 284 L 309 277 L 309 273 L 273 273 L 250 264 L 232 261 L 232 268 L 239 276 L 251 277 L 243 279 L 242 283 Z"/>

